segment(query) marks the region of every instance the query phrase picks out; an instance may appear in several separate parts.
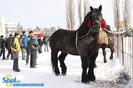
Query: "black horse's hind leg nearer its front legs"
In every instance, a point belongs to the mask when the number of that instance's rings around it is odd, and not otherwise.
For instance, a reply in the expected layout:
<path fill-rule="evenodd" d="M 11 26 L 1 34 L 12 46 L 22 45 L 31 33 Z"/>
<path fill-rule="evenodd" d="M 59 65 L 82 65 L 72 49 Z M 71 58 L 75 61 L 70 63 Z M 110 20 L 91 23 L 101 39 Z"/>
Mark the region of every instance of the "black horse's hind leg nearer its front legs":
<path fill-rule="evenodd" d="M 67 67 L 66 67 L 65 62 L 64 62 L 66 56 L 67 56 L 67 53 L 61 53 L 59 55 L 59 61 L 60 61 L 60 67 L 62 70 L 62 75 L 66 75 Z"/>

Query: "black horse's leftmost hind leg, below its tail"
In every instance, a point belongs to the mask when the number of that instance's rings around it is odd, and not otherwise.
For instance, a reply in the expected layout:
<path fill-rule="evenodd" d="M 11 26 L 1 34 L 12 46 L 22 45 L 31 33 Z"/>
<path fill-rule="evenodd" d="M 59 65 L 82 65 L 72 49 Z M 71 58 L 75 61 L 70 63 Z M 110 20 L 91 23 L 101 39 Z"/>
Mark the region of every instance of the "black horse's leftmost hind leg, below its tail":
<path fill-rule="evenodd" d="M 55 75 L 60 75 L 60 71 L 58 68 L 58 58 L 57 58 L 58 52 L 53 52 L 51 51 L 51 62 L 52 62 L 52 67 Z"/>

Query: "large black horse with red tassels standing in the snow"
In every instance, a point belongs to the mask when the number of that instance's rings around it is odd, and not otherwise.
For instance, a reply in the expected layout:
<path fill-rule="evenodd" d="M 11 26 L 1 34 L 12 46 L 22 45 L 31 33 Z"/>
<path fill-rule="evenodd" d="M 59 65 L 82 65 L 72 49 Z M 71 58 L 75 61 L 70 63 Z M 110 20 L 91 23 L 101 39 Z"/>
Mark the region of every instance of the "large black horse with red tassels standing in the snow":
<path fill-rule="evenodd" d="M 81 82 L 88 83 L 89 81 L 95 81 L 95 60 L 100 48 L 99 31 L 103 19 L 101 11 L 102 5 L 98 8 L 90 6 L 90 12 L 87 13 L 83 23 L 75 32 L 58 29 L 51 35 L 49 41 L 51 65 L 56 76 L 60 75 L 58 60 L 60 62 L 61 73 L 65 76 L 67 72 L 64 62 L 65 57 L 68 54 L 79 55 L 82 66 Z M 88 25 L 91 25 L 91 27 Z M 61 54 L 58 55 L 59 51 L 61 51 Z"/>

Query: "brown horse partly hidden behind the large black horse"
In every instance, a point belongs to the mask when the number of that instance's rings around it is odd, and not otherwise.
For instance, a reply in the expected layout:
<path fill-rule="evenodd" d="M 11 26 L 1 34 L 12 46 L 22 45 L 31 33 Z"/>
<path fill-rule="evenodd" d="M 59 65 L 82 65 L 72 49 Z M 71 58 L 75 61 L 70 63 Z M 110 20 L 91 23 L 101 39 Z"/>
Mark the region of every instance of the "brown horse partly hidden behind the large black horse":
<path fill-rule="evenodd" d="M 113 53 L 114 53 L 114 35 L 111 32 L 111 28 L 110 28 L 110 25 L 107 25 L 106 29 L 103 30 L 106 34 L 107 34 L 107 37 L 108 37 L 108 44 L 105 44 L 105 43 L 102 43 L 100 45 L 100 48 L 102 48 L 102 52 L 103 52 L 103 57 L 104 57 L 104 63 L 107 62 L 107 59 L 106 59 L 106 48 L 109 48 L 110 51 L 111 51 L 111 54 L 110 54 L 110 60 L 113 59 Z"/>

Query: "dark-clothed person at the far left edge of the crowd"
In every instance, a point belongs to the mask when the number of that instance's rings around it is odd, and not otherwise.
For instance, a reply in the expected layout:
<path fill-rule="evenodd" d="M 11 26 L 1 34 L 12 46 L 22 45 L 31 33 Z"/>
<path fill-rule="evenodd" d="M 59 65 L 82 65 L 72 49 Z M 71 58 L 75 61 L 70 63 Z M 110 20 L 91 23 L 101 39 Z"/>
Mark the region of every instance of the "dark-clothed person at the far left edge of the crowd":
<path fill-rule="evenodd" d="M 0 49 L 1 49 L 0 57 L 3 54 L 3 60 L 5 60 L 6 59 L 5 58 L 5 39 L 4 39 L 3 35 L 1 35 L 1 37 L 0 37 Z"/>

